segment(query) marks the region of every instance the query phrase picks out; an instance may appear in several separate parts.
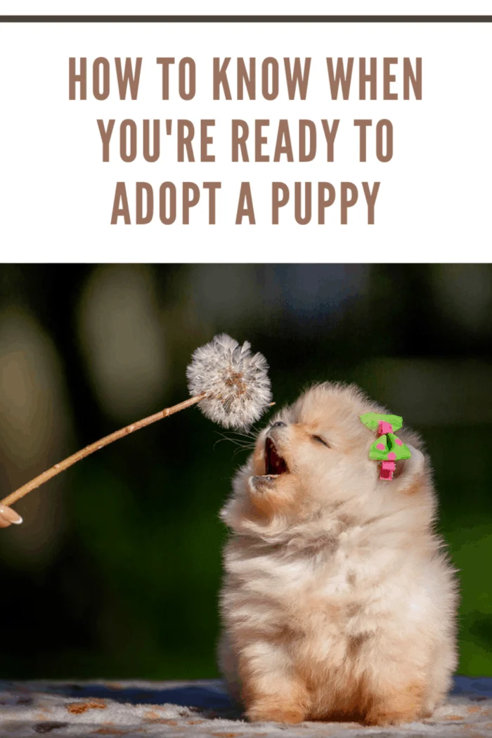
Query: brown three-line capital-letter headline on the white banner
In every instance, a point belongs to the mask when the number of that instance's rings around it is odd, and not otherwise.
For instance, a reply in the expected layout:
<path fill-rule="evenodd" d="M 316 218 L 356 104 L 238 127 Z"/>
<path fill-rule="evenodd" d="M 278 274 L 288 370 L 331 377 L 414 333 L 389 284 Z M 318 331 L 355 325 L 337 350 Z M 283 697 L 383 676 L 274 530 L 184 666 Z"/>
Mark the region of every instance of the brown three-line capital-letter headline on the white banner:
<path fill-rule="evenodd" d="M 194 100 L 197 94 L 209 103 L 207 117 L 200 117 L 199 108 L 192 107 L 190 119 L 171 117 L 174 108 L 167 105 L 162 117 L 150 118 L 142 111 L 139 120 L 107 117 L 107 108 L 101 108 L 106 117 L 97 117 L 95 123 L 103 164 L 142 166 L 128 170 L 129 174 L 139 171 L 133 181 L 115 183 L 111 225 L 285 225 L 289 221 L 302 226 L 347 225 L 349 211 L 354 223 L 373 225 L 381 188 L 378 164 L 392 161 L 393 124 L 386 107 L 381 110 L 384 117 L 375 118 L 374 108 L 368 117 L 367 108 L 361 106 L 342 120 L 336 115 L 346 108 L 337 103 L 353 97 L 362 103 L 422 100 L 420 57 L 360 57 L 358 63 L 353 57 L 238 57 L 234 62 L 231 57 L 214 57 L 198 64 L 190 56 L 158 56 L 145 64 L 142 57 L 127 57 L 124 63 L 116 57 L 113 64 L 100 56 L 91 62 L 91 74 L 88 61 L 86 57 L 69 58 L 69 100 L 137 100 L 144 69 L 153 78 L 144 86 L 144 94 L 153 84 L 156 96 L 166 103 Z M 325 68 L 323 72 L 320 67 Z M 159 85 L 154 79 L 157 71 Z M 316 105 L 328 99 L 334 103 L 330 114 L 335 117 L 309 117 L 313 115 L 311 102 Z M 258 108 L 258 100 L 267 107 Z M 269 115 L 268 103 L 282 100 L 295 100 L 296 106 L 273 106 Z M 235 101 L 240 104 L 234 105 Z M 316 111 L 316 115 L 325 113 Z M 308 173 L 309 162 L 339 163 L 342 156 L 350 166 L 350 178 L 337 173 L 335 179 L 336 168 L 323 167 L 322 176 L 319 168 L 314 175 Z M 371 161 L 377 174 L 363 168 L 364 180 L 354 176 L 354 162 Z M 148 175 L 156 169 L 148 165 L 156 162 L 167 169 L 198 163 L 215 163 L 217 168 L 204 167 L 203 176 L 194 176 L 194 181 L 188 181 L 188 176 L 186 181 L 180 176 L 170 181 L 167 177 L 174 174 L 168 174 L 164 181 L 159 176 L 153 182 Z M 262 176 L 254 181 L 252 164 L 271 168 L 269 173 L 262 169 Z M 297 170 L 285 176 L 285 165 L 291 164 Z M 180 168 L 173 171 L 179 174 Z M 377 181 L 369 181 L 370 176 Z M 264 207 L 268 200 L 269 207 Z"/>

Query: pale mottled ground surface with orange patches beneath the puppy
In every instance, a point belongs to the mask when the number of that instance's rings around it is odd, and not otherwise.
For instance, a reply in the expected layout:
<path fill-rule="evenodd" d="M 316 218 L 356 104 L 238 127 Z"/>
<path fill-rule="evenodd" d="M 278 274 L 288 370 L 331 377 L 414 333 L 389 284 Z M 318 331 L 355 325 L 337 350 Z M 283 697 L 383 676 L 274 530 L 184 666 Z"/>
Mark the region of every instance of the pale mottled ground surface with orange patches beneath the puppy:
<path fill-rule="evenodd" d="M 492 678 L 456 677 L 445 706 L 403 728 L 357 723 L 244 722 L 218 681 L 0 682 L 0 738 L 191 736 L 215 738 L 454 736 L 492 737 Z"/>

